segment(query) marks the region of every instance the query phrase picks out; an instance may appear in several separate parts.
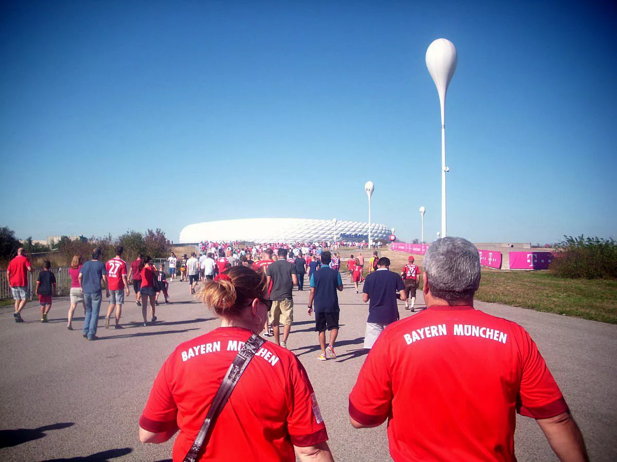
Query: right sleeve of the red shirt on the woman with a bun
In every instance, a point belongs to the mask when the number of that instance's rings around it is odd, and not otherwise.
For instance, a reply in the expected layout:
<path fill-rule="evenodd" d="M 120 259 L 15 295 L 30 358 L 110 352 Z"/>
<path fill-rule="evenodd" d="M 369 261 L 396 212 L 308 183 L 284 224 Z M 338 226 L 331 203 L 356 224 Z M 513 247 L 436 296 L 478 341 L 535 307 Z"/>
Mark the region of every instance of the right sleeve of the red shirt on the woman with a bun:
<path fill-rule="evenodd" d="M 295 446 L 313 446 L 328 440 L 315 391 L 304 367 L 294 357 L 288 373 L 287 427 Z"/>

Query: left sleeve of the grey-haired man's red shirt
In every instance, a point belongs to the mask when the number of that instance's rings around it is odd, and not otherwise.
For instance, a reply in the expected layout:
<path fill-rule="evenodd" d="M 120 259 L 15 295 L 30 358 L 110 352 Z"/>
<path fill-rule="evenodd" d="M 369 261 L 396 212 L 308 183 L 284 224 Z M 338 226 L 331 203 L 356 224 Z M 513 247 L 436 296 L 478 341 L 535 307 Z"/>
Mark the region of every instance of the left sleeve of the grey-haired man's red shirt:
<path fill-rule="evenodd" d="M 388 352 L 391 345 L 382 333 L 360 369 L 349 394 L 349 415 L 363 425 L 381 424 L 390 414 L 392 378 Z"/>

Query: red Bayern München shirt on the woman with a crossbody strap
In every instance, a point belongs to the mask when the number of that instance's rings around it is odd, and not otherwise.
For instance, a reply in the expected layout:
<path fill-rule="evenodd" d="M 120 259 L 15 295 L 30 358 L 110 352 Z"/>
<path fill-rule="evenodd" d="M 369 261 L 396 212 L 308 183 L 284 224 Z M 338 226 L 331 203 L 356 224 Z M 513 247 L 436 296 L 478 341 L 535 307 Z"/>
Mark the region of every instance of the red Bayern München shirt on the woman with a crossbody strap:
<path fill-rule="evenodd" d="M 164 432 L 177 424 L 173 460 L 182 461 L 210 403 L 251 331 L 220 327 L 184 342 L 154 381 L 139 426 Z M 199 460 L 295 461 L 293 445 L 328 440 L 304 367 L 292 352 L 265 342 L 231 393 Z"/>

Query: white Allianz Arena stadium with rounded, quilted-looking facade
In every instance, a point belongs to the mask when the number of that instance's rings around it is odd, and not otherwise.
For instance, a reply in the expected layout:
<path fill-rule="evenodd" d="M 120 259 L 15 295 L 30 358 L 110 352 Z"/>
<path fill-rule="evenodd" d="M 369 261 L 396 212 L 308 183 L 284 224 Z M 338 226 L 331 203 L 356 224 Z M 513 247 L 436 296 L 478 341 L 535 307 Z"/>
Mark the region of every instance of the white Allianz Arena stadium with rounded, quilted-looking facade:
<path fill-rule="evenodd" d="M 371 223 L 371 240 L 387 241 L 391 228 Z M 247 218 L 196 223 L 180 232 L 180 243 L 201 241 L 313 242 L 368 241 L 368 223 L 304 218 Z"/>

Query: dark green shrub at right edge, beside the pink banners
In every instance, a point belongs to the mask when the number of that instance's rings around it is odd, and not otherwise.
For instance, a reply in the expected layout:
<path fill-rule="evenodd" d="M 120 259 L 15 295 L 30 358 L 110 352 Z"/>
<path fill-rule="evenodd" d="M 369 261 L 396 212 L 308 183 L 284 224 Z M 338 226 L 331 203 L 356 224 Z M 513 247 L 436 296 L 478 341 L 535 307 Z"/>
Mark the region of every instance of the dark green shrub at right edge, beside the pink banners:
<path fill-rule="evenodd" d="M 617 242 L 598 237 L 564 236 L 555 245 L 550 272 L 563 278 L 617 278 Z"/>

